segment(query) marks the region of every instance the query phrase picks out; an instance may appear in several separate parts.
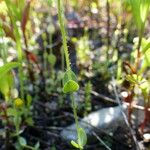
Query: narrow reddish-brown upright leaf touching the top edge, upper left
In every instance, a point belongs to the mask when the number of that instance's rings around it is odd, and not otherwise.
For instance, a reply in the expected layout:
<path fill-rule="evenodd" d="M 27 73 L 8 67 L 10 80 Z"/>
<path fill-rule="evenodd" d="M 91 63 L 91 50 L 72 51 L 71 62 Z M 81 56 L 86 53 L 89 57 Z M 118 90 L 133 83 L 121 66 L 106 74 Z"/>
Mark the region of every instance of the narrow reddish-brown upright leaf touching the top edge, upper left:
<path fill-rule="evenodd" d="M 23 15 L 22 15 L 21 28 L 22 28 L 23 33 L 25 32 L 26 24 L 27 24 L 28 19 L 29 19 L 30 3 L 31 3 L 30 0 L 27 1 L 27 4 L 24 8 Z"/>

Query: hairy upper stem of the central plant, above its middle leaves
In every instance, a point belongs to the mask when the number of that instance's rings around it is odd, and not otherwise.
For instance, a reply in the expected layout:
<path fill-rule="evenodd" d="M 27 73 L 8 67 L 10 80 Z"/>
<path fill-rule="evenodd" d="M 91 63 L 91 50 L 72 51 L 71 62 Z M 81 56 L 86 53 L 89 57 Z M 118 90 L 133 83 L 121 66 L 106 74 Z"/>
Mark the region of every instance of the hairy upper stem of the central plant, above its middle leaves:
<path fill-rule="evenodd" d="M 63 42 L 63 49 L 66 57 L 66 66 L 67 70 L 70 70 L 70 60 L 69 60 L 69 52 L 68 52 L 68 47 L 67 47 L 67 38 L 66 38 L 66 30 L 65 30 L 65 24 L 64 24 L 64 13 L 63 13 L 63 8 L 61 4 L 62 0 L 58 0 L 58 19 L 59 19 L 59 24 L 60 24 L 60 29 L 61 29 L 61 34 L 62 34 L 62 42 Z"/>

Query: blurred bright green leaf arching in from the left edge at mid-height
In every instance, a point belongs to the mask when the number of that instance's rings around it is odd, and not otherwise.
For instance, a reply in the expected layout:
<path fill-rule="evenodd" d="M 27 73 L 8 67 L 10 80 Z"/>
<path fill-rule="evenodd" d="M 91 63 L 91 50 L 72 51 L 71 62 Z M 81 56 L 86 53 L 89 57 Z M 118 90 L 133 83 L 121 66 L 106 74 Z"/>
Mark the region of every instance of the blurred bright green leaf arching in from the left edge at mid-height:
<path fill-rule="evenodd" d="M 0 67 L 0 79 L 11 69 L 16 68 L 20 66 L 21 64 L 18 62 L 9 62 L 5 64 L 4 66 Z"/>

